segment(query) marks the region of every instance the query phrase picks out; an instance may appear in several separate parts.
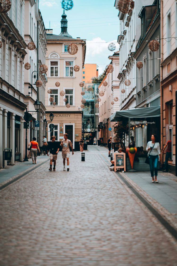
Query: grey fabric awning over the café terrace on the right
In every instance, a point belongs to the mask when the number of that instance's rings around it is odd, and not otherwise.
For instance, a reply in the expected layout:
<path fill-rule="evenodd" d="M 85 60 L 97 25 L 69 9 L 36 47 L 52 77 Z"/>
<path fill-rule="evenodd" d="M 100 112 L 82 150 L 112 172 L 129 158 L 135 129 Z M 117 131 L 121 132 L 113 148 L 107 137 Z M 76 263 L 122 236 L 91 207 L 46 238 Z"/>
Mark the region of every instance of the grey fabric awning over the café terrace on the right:
<path fill-rule="evenodd" d="M 131 110 L 117 111 L 110 116 L 110 122 L 121 121 L 121 118 L 131 118 L 134 121 L 146 120 L 148 117 L 160 117 L 160 106 L 143 107 Z"/>

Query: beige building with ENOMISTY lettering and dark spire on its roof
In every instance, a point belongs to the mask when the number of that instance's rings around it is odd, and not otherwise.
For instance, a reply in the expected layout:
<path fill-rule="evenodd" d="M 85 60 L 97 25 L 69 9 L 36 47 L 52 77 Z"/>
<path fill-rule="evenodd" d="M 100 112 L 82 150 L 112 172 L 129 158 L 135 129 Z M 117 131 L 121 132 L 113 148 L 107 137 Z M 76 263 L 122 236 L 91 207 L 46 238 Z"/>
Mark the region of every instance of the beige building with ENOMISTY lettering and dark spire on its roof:
<path fill-rule="evenodd" d="M 50 136 L 55 135 L 57 141 L 63 139 L 63 134 L 68 133 L 73 147 L 79 150 L 79 140 L 82 138 L 82 116 L 80 107 L 82 88 L 82 68 L 84 66 L 86 41 L 77 37 L 73 39 L 67 32 L 66 14 L 63 12 L 61 20 L 61 33 L 53 34 L 52 30 L 47 33 L 46 65 L 48 66 L 48 83 L 45 93 L 46 119 L 50 121 L 49 114 L 54 114 L 54 129 L 50 132 L 50 123 L 46 124 L 48 141 Z M 78 51 L 71 55 L 68 53 L 68 45 L 74 43 Z M 79 71 L 74 71 L 74 66 L 79 66 Z M 60 85 L 56 86 L 55 83 Z M 51 90 L 48 93 L 48 90 Z M 63 93 L 64 92 L 64 93 Z M 63 94 L 64 95 L 63 95 Z M 50 102 L 53 97 L 54 102 Z M 64 99 L 67 99 L 65 102 Z M 53 103 L 55 105 L 53 105 Z M 67 108 L 69 103 L 70 107 Z"/>

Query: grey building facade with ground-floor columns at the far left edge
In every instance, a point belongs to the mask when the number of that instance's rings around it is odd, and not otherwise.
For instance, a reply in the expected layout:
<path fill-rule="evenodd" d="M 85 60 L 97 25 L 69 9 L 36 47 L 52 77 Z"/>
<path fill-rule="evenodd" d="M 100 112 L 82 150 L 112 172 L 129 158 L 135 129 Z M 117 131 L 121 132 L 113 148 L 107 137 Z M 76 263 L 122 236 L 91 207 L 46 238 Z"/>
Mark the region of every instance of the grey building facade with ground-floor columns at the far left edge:
<path fill-rule="evenodd" d="M 12 149 L 12 157 L 5 161 L 5 166 L 23 160 L 23 115 L 26 109 L 23 62 L 27 47 L 24 5 L 24 1 L 12 0 L 10 10 L 0 15 L 0 167 L 6 148 Z"/>

